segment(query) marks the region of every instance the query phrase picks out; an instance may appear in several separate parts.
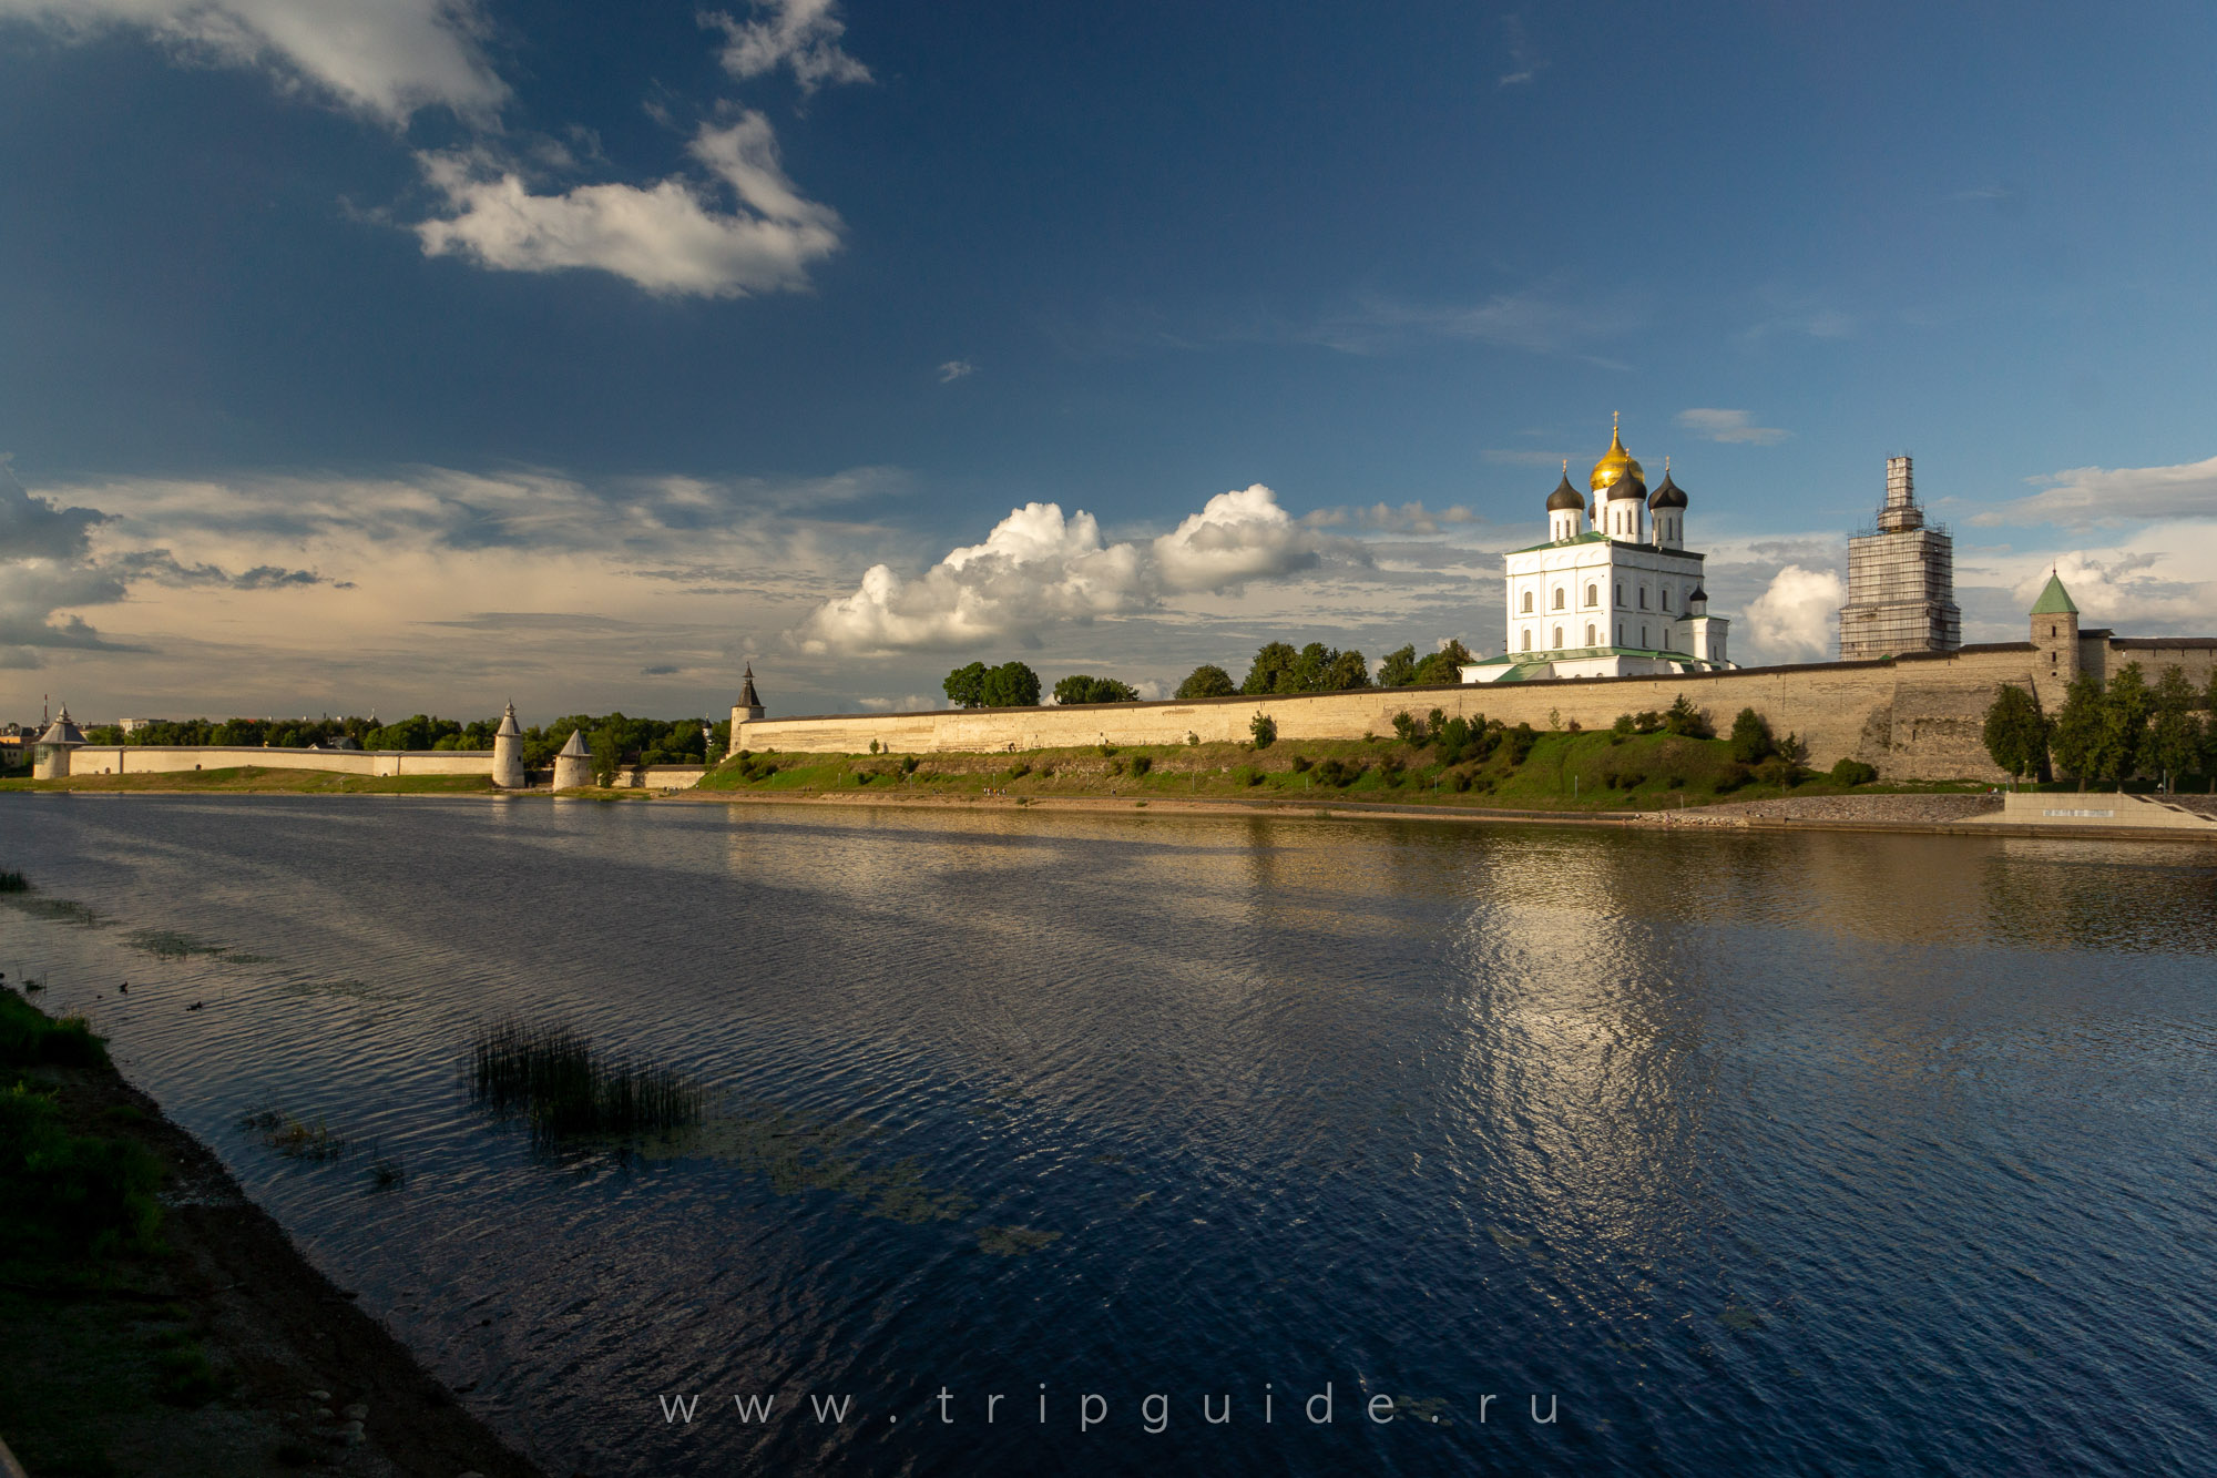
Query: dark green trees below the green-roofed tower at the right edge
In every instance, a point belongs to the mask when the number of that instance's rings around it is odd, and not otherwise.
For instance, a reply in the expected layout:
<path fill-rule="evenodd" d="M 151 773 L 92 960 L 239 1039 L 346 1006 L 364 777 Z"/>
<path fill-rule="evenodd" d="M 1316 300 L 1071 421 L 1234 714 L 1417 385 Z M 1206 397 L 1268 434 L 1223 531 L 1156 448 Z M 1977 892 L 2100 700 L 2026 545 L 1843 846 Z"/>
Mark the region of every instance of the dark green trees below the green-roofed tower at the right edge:
<path fill-rule="evenodd" d="M 2080 790 L 2104 781 L 2124 790 L 2142 775 L 2170 790 L 2184 775 L 2217 777 L 2217 672 L 2201 692 L 2175 666 L 2153 684 L 2137 661 L 2106 684 L 2080 672 L 2055 715 L 2042 712 L 2031 688 L 2002 684 L 1986 706 L 1984 739 L 2013 779 L 2053 779 L 2062 768 Z"/>

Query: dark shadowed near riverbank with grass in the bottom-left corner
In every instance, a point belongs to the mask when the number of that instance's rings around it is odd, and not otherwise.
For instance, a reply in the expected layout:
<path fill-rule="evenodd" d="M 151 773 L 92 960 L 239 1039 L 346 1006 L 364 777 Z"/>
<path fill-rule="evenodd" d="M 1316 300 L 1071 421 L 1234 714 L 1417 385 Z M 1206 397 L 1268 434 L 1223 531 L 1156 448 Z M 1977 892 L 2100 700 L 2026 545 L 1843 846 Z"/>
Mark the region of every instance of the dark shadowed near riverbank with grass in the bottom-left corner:
<path fill-rule="evenodd" d="M 0 1436 L 29 1474 L 539 1471 L 319 1274 L 100 1039 L 11 988 L 0 1099 L 13 1352 Z"/>

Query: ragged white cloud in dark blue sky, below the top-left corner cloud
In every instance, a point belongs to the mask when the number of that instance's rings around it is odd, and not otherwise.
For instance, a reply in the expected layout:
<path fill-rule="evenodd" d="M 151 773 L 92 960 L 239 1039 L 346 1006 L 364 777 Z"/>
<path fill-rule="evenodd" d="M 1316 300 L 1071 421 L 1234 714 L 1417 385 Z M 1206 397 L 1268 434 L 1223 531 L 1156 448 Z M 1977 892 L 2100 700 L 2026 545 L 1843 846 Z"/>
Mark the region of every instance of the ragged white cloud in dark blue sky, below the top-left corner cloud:
<path fill-rule="evenodd" d="M 523 273 L 590 266 L 670 297 L 800 288 L 809 264 L 838 251 L 838 211 L 805 200 L 785 178 L 760 113 L 703 124 L 689 153 L 729 186 L 729 209 L 683 178 L 534 195 L 483 155 L 426 153 L 423 173 L 454 213 L 415 231 L 426 255 Z"/>

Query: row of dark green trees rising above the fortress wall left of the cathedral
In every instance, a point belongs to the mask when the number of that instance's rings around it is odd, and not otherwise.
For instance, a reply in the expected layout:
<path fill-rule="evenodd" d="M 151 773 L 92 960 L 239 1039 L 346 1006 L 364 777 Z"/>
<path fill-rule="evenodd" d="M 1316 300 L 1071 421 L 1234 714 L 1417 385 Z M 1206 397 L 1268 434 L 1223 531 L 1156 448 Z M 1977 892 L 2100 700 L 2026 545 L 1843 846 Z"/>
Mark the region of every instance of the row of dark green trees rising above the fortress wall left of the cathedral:
<path fill-rule="evenodd" d="M 1293 646 L 1290 641 L 1266 641 L 1248 664 L 1242 681 L 1224 668 L 1204 661 L 1177 686 L 1179 701 L 1204 697 L 1268 697 L 1279 692 L 1348 692 L 1352 688 L 1414 688 L 1426 684 L 1457 684 L 1457 668 L 1477 661 L 1461 641 L 1445 641 L 1437 652 L 1419 659 L 1414 644 L 1386 652 L 1377 677 L 1370 675 L 1370 659 L 1359 650 L 1335 650 L 1321 641 Z M 1022 661 L 987 666 L 973 661 L 947 675 L 947 701 L 956 708 L 1031 708 L 1040 701 L 1040 675 Z M 1133 703 L 1140 692 L 1113 677 L 1091 677 L 1071 672 L 1053 686 L 1058 703 Z"/>

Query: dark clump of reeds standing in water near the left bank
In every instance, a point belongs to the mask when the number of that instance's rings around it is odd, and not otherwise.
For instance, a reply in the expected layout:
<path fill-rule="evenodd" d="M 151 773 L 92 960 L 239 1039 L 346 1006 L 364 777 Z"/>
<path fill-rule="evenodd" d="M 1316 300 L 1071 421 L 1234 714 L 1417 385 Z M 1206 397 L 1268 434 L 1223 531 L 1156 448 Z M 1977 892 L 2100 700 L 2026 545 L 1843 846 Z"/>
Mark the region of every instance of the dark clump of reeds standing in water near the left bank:
<path fill-rule="evenodd" d="M 667 1134 L 701 1123 L 707 1094 L 670 1067 L 603 1056 L 570 1027 L 479 1027 L 470 1092 L 541 1138 Z"/>

